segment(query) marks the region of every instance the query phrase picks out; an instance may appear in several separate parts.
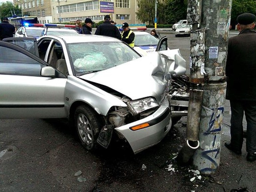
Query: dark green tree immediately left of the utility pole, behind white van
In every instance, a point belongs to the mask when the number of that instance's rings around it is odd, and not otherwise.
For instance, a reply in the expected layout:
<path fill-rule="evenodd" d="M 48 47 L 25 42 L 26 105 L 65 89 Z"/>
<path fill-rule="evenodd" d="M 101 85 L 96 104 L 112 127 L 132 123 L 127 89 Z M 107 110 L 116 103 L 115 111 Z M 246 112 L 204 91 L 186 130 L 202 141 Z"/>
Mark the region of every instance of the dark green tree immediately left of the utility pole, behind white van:
<path fill-rule="evenodd" d="M 168 24 L 187 19 L 187 0 L 166 0 L 165 17 Z"/>

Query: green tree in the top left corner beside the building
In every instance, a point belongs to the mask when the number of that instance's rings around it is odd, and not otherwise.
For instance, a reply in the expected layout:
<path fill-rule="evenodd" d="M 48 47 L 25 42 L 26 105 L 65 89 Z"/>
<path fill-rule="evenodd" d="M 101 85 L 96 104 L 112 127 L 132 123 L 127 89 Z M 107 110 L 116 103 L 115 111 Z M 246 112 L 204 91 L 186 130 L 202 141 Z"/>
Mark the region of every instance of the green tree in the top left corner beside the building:
<path fill-rule="evenodd" d="M 14 6 L 12 2 L 7 1 L 6 3 L 0 4 L 1 19 L 4 17 L 12 17 L 14 14 L 21 16 L 21 9 L 18 5 Z"/>

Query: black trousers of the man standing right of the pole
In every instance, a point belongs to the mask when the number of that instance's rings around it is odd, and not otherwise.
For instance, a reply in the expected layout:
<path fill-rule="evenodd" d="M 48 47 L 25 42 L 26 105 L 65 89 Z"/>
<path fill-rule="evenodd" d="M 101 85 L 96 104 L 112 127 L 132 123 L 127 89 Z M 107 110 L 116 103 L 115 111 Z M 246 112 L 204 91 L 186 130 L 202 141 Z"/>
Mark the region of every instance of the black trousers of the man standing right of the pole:
<path fill-rule="evenodd" d="M 243 145 L 243 117 L 247 123 L 246 151 L 256 152 L 256 101 L 230 100 L 231 143 L 238 150 Z"/>

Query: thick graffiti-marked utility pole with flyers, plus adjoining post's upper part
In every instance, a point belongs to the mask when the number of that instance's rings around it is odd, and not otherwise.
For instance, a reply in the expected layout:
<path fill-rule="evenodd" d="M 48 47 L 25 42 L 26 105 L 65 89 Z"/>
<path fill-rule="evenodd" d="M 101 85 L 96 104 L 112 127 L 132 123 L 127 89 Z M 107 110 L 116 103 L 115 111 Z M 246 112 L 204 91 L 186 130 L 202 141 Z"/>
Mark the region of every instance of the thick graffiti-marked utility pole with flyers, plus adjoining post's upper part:
<path fill-rule="evenodd" d="M 203 90 L 200 146 L 193 156 L 193 165 L 206 175 L 214 174 L 220 163 L 231 5 L 232 0 L 188 0 L 188 21 L 193 30 L 190 82 L 197 88 L 201 85 Z M 198 23 L 200 29 L 196 30 Z"/>

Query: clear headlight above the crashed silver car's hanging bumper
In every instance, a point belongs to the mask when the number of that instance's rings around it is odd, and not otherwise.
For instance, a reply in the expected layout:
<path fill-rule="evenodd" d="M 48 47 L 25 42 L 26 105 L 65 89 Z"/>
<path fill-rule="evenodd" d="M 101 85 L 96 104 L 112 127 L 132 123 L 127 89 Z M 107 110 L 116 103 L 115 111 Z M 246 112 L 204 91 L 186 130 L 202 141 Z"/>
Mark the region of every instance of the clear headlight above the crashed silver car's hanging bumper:
<path fill-rule="evenodd" d="M 131 109 L 133 115 L 137 115 L 143 111 L 146 111 L 148 109 L 158 106 L 156 100 L 150 97 L 145 99 L 135 100 L 135 101 L 129 101 L 127 105 Z"/>

